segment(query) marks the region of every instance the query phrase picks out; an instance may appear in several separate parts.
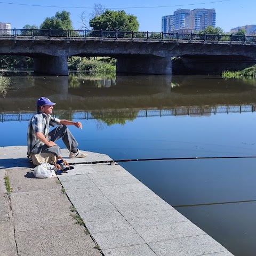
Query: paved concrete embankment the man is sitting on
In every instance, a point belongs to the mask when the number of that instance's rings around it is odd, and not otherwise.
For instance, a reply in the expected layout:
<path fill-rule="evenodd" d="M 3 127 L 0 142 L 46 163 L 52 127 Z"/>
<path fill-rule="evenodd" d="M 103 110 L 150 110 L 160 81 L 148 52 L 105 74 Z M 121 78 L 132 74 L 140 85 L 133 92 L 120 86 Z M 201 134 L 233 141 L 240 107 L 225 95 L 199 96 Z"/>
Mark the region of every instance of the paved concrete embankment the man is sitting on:
<path fill-rule="evenodd" d="M 31 168 L 26 147 L 0 148 L 1 256 L 233 255 L 118 164 L 76 165 L 51 179 Z"/>

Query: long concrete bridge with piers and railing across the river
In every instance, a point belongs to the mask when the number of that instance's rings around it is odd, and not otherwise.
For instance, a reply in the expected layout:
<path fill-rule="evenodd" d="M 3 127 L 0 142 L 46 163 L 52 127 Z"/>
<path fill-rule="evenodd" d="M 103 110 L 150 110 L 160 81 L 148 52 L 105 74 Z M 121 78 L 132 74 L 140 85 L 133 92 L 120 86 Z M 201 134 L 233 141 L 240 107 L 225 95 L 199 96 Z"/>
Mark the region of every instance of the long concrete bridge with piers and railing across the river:
<path fill-rule="evenodd" d="M 62 34 L 60 30 L 58 34 L 53 30 L 43 34 L 42 31 L 0 33 L 0 55 L 33 57 L 36 73 L 53 75 L 68 75 L 69 56 L 113 57 L 117 59 L 117 72 L 159 75 L 171 75 L 172 69 L 175 74 L 216 74 L 256 63 L 255 36 L 163 33 L 127 36 L 128 32 L 124 35 L 122 31 L 100 31 L 95 36 L 85 34 L 84 30 L 81 30 L 83 35 L 78 31 L 70 34 L 68 30 L 61 30 Z M 173 61 L 172 57 L 179 58 Z"/>

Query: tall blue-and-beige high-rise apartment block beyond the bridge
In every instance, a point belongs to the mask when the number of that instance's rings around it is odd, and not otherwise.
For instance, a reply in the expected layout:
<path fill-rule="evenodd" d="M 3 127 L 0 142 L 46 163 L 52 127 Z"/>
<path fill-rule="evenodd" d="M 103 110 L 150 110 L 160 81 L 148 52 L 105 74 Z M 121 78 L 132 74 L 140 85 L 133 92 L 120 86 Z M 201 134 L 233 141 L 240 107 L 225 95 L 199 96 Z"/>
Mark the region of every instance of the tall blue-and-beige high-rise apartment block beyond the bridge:
<path fill-rule="evenodd" d="M 173 15 L 162 17 L 162 31 L 171 33 L 173 30 L 190 29 L 204 30 L 206 27 L 216 26 L 215 9 L 178 9 Z"/>

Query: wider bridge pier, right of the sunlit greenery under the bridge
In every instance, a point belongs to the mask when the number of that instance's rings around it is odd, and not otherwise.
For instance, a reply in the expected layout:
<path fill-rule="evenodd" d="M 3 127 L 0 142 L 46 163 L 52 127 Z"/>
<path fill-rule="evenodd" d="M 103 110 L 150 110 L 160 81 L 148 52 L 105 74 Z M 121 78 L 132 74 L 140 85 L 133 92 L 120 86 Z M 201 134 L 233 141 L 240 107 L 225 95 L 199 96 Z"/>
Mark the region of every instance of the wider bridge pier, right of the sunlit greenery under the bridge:
<path fill-rule="evenodd" d="M 116 57 L 116 71 L 120 73 L 139 73 L 171 75 L 171 57 L 154 55 L 124 55 Z"/>

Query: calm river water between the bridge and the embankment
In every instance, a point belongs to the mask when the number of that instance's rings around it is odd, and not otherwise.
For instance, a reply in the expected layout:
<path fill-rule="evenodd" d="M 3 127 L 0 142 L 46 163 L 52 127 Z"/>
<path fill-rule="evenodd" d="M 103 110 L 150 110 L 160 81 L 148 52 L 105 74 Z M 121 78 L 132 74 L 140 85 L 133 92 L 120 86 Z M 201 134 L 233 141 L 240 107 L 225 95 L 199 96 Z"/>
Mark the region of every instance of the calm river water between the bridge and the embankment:
<path fill-rule="evenodd" d="M 70 126 L 79 149 L 113 159 L 256 155 L 253 79 L 9 78 L 0 95 L 0 146 L 26 145 L 28 119 L 44 96 L 57 102 L 55 116 L 83 124 L 83 130 Z M 255 255 L 256 158 L 120 164 L 230 252 Z"/>

